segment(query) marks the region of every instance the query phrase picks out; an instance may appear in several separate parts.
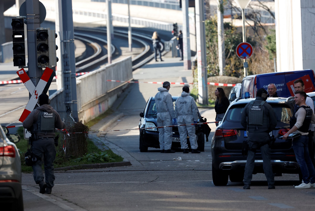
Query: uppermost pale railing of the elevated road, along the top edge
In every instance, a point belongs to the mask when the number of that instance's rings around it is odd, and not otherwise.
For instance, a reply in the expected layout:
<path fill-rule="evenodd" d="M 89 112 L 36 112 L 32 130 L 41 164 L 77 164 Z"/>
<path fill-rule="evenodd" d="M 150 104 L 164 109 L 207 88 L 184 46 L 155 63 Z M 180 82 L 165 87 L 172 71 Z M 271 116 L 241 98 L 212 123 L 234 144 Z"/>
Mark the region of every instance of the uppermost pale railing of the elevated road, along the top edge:
<path fill-rule="evenodd" d="M 91 0 L 92 2 L 106 2 L 106 0 Z M 127 4 L 127 0 L 112 0 L 112 3 Z M 130 0 L 131 5 L 157 7 L 164 9 L 181 10 L 177 0 L 156 0 L 156 1 L 141 1 L 141 0 Z"/>

